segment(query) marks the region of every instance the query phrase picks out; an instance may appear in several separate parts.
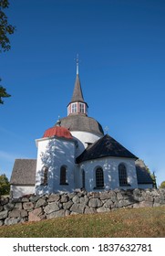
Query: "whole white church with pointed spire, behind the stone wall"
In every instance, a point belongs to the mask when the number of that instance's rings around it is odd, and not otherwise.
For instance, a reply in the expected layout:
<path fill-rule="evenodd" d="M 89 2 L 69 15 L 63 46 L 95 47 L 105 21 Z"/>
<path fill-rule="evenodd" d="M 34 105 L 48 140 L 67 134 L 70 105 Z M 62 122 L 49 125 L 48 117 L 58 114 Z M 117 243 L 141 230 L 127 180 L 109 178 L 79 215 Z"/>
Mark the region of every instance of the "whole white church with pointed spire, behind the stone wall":
<path fill-rule="evenodd" d="M 15 159 L 11 196 L 151 188 L 147 166 L 88 117 L 78 74 L 67 117 L 36 139 L 36 159 Z"/>

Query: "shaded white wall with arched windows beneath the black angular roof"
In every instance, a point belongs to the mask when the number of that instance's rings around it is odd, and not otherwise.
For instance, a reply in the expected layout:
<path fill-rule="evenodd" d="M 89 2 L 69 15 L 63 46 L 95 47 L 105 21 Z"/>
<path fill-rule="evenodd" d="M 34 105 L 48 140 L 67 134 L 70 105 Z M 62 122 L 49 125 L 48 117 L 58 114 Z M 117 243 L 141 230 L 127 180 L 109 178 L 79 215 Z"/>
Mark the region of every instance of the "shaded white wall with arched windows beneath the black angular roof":
<path fill-rule="evenodd" d="M 124 164 L 127 167 L 128 183 L 129 187 L 119 187 L 119 164 Z M 117 158 L 117 157 L 105 157 L 97 160 L 89 160 L 80 165 L 80 169 L 85 170 L 86 176 L 86 189 L 93 191 L 96 187 L 96 169 L 101 167 L 104 173 L 104 190 L 115 188 L 136 188 L 137 174 L 135 168 L 134 159 L 129 158 Z M 80 176 L 82 179 L 82 176 Z M 80 183 L 80 182 L 79 182 Z M 82 184 L 82 182 L 81 182 Z M 96 191 L 99 191 L 95 189 Z M 100 191 L 103 189 L 100 189 Z"/>

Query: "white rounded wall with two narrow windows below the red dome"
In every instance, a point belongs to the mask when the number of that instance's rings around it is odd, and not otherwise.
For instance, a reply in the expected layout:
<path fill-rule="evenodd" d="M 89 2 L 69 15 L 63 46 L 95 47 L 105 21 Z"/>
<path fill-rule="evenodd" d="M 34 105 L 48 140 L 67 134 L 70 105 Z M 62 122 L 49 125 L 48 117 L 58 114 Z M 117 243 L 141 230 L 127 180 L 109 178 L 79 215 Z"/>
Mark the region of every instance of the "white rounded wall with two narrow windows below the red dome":
<path fill-rule="evenodd" d="M 74 184 L 75 143 L 62 138 L 44 139 L 38 141 L 36 163 L 36 194 L 71 192 Z M 41 185 L 43 166 L 47 166 L 47 185 Z M 67 184 L 60 185 L 60 168 L 67 170 Z"/>

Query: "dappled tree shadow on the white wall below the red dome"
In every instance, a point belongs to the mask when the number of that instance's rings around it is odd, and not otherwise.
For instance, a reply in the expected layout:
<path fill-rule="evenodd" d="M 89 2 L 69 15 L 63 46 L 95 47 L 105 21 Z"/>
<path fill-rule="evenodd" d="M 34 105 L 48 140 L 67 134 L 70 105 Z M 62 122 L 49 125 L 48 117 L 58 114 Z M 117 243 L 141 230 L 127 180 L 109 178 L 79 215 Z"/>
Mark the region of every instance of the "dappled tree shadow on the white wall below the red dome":
<path fill-rule="evenodd" d="M 60 167 L 62 165 L 67 166 L 69 176 L 67 176 L 68 184 L 71 180 L 74 180 L 74 165 L 75 155 L 74 151 L 71 154 L 71 146 L 73 142 L 51 139 L 46 145 L 46 151 L 41 153 L 42 166 L 46 166 L 47 172 L 47 183 L 41 185 L 42 179 L 44 178 L 43 169 L 38 170 L 36 174 L 36 194 L 49 194 L 53 192 L 61 192 L 60 187 Z M 72 168 L 72 169 L 71 169 Z M 63 192 L 68 191 L 68 186 L 61 187 Z"/>

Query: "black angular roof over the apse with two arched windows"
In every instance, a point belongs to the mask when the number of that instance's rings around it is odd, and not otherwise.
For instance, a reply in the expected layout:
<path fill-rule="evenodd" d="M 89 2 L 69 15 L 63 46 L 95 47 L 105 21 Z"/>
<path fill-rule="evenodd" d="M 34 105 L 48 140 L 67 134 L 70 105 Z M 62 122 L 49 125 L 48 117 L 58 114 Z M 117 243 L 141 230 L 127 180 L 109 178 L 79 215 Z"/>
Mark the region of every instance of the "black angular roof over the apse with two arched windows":
<path fill-rule="evenodd" d="M 88 148 L 77 157 L 77 163 L 106 156 L 138 159 L 136 155 L 130 153 L 123 145 L 119 144 L 115 139 L 106 134 L 96 143 L 89 145 Z"/>

